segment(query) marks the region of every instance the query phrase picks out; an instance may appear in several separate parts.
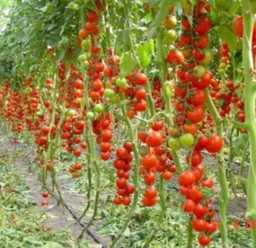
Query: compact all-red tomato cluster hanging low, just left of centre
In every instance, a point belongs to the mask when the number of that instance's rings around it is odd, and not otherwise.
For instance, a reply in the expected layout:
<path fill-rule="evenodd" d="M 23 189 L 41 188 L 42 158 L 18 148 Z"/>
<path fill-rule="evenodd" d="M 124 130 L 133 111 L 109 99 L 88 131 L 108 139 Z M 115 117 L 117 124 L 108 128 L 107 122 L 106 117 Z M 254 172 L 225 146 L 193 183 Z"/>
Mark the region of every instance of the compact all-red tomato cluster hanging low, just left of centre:
<path fill-rule="evenodd" d="M 117 159 L 114 160 L 114 168 L 117 169 L 116 185 L 117 195 L 113 199 L 113 203 L 116 205 L 124 204 L 129 205 L 131 203 L 130 195 L 134 193 L 134 184 L 127 184 L 127 180 L 130 178 L 129 171 L 132 169 L 132 144 L 126 142 L 124 147 L 119 147 L 116 151 Z"/>

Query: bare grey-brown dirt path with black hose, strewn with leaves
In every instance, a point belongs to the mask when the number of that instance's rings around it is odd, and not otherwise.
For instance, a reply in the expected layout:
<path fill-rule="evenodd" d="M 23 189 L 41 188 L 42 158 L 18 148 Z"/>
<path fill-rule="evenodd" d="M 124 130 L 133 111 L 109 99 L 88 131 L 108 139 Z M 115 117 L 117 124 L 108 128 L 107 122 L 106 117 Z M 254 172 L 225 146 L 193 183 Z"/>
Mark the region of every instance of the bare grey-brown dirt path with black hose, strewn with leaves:
<path fill-rule="evenodd" d="M 43 201 L 41 194 L 43 191 L 41 189 L 40 175 L 38 172 L 31 173 L 28 167 L 28 164 L 33 164 L 37 154 L 26 145 L 12 143 L 12 138 L 8 136 L 9 135 L 1 135 L 1 153 L 18 153 L 18 156 L 16 156 L 13 161 L 14 166 L 20 171 L 21 176 L 26 180 L 31 190 L 31 201 L 36 203 L 36 208 L 43 210 L 45 215 L 48 216 L 48 220 L 45 220 L 41 225 L 55 231 L 69 229 L 74 237 L 78 237 L 82 232 L 82 226 L 85 226 L 87 221 L 90 220 L 89 216 L 91 213 L 88 212 L 87 216 L 85 216 L 80 223 L 74 218 L 81 215 L 79 210 L 81 203 L 86 203 L 86 199 L 80 196 L 78 192 L 75 192 L 75 179 L 70 178 L 69 175 L 67 176 L 65 172 L 58 173 L 57 177 L 57 181 L 63 192 L 63 199 L 70 211 L 68 211 L 67 208 L 63 209 L 61 205 L 57 205 L 57 201 L 53 197 L 47 199 L 49 202 L 48 206 L 41 206 L 41 201 Z M 110 242 L 108 237 L 97 234 L 97 228 L 94 225 L 89 228 L 83 238 L 87 240 L 91 248 L 105 248 Z"/>

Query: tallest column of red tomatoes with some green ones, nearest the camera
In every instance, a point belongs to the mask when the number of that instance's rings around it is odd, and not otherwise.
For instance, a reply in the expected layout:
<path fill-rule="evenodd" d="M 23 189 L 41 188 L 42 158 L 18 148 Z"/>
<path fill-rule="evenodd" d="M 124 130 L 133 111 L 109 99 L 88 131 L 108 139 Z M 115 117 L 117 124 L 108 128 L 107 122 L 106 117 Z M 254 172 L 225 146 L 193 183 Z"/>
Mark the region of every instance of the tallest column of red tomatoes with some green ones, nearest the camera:
<path fill-rule="evenodd" d="M 167 61 L 172 65 L 179 65 L 176 68 L 178 83 L 174 88 L 176 101 L 174 106 L 177 114 L 175 117 L 176 127 L 169 131 L 172 136 L 169 140 L 169 147 L 172 150 L 179 150 L 181 147 L 192 147 L 190 154 L 186 157 L 188 167 L 178 176 L 181 186 L 181 193 L 186 196 L 183 203 L 183 210 L 193 213 L 193 229 L 203 232 L 199 235 L 198 242 L 203 246 L 210 244 L 210 233 L 216 227 L 212 220 L 215 214 L 210 200 L 203 196 L 201 187 L 213 186 L 213 180 L 204 174 L 204 167 L 201 164 L 203 157 L 201 150 L 208 152 L 219 152 L 223 147 L 223 138 L 219 135 L 212 135 L 207 138 L 203 135 L 195 139 L 198 133 L 198 123 L 203 123 L 205 118 L 206 92 L 204 89 L 213 83 L 213 74 L 206 71 L 206 64 L 210 62 L 211 55 L 208 50 L 208 31 L 211 28 L 211 21 L 207 17 L 210 5 L 206 1 L 199 1 L 195 8 L 193 23 L 190 23 L 186 16 L 181 19 L 183 30 L 180 35 L 180 42 L 176 43 L 181 47 L 179 50 L 169 52 Z M 212 121 L 210 115 L 207 120 Z M 206 133 L 206 121 L 201 125 L 202 133 Z M 213 128 L 213 123 L 211 123 Z M 211 130 L 213 133 L 213 129 Z"/>

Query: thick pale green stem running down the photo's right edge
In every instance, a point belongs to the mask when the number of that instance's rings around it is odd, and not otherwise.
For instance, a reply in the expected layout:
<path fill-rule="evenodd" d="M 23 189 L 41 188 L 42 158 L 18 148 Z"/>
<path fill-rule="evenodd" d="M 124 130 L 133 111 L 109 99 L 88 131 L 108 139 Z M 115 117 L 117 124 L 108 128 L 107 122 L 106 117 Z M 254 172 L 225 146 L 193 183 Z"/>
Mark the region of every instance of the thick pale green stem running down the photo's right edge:
<path fill-rule="evenodd" d="M 256 220 L 256 117 L 255 117 L 255 81 L 252 58 L 253 15 L 250 12 L 250 1 L 242 0 L 244 30 L 242 39 L 242 64 L 245 74 L 245 125 L 250 137 L 250 168 L 247 176 L 247 218 Z M 252 247 L 256 247 L 256 229 L 252 228 Z"/>

